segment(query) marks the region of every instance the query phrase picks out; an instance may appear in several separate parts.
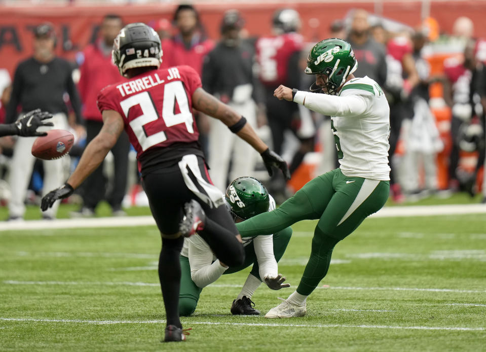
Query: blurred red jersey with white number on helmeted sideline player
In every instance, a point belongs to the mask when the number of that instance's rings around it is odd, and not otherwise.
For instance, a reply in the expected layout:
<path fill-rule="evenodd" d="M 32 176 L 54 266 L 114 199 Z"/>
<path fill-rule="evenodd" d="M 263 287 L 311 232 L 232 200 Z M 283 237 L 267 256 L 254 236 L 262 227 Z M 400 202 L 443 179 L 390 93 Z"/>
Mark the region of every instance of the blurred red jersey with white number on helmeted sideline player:
<path fill-rule="evenodd" d="M 255 46 L 261 83 L 278 86 L 286 83 L 290 56 L 302 51 L 304 40 L 300 34 L 284 33 L 259 38 Z"/>

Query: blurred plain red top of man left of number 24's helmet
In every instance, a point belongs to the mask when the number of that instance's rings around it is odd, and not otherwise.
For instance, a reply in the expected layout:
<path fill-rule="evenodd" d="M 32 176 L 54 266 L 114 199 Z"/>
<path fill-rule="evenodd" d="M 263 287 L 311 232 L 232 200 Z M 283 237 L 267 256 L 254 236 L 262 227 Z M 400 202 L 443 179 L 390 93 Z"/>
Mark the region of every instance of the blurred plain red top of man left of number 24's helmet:
<path fill-rule="evenodd" d="M 111 61 L 111 54 L 104 55 L 97 45 L 89 45 L 78 56 L 80 81 L 78 91 L 83 102 L 82 114 L 85 120 L 103 121 L 96 106 L 98 92 L 109 84 L 125 80 L 118 67 Z"/>

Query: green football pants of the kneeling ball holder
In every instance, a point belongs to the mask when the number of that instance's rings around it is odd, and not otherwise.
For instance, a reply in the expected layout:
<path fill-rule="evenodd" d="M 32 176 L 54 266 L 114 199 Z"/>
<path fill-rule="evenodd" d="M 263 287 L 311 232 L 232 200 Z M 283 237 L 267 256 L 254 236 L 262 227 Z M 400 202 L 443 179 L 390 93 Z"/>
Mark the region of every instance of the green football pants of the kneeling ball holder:
<path fill-rule="evenodd" d="M 275 260 L 278 262 L 282 258 L 287 244 L 292 236 L 292 229 L 290 227 L 284 228 L 273 235 L 273 253 Z M 198 287 L 191 279 L 191 266 L 189 265 L 189 258 L 179 256 L 180 260 L 180 293 L 179 293 L 179 315 L 189 316 L 196 310 L 198 305 L 199 295 L 202 288 Z M 241 266 L 229 268 L 225 274 L 231 274 L 253 264 L 250 273 L 256 278 L 260 278 L 258 272 L 258 262 L 256 260 L 255 250 L 253 248 L 253 241 L 245 247 L 245 261 Z"/>

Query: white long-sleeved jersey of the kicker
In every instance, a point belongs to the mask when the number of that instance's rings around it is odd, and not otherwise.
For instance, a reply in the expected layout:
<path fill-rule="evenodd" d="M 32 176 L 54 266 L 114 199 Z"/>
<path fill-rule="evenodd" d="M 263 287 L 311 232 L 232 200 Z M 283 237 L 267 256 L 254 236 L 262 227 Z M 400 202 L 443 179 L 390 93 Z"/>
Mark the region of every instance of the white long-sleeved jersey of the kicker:
<path fill-rule="evenodd" d="M 339 96 L 298 91 L 294 101 L 331 116 L 343 174 L 390 180 L 390 108 L 378 83 L 369 77 L 354 78 L 346 82 Z"/>

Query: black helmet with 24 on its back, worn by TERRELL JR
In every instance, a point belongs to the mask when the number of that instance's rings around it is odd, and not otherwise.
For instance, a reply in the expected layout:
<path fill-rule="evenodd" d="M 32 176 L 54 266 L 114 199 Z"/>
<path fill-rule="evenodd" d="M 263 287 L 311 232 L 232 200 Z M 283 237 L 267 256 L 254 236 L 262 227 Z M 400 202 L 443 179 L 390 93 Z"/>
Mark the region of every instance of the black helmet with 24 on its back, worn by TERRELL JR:
<path fill-rule="evenodd" d="M 130 23 L 118 33 L 111 51 L 120 75 L 129 68 L 155 66 L 162 61 L 162 48 L 157 32 L 145 23 Z"/>

